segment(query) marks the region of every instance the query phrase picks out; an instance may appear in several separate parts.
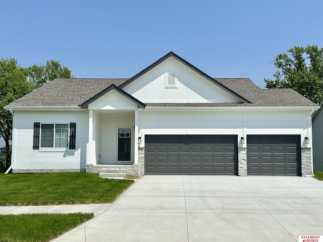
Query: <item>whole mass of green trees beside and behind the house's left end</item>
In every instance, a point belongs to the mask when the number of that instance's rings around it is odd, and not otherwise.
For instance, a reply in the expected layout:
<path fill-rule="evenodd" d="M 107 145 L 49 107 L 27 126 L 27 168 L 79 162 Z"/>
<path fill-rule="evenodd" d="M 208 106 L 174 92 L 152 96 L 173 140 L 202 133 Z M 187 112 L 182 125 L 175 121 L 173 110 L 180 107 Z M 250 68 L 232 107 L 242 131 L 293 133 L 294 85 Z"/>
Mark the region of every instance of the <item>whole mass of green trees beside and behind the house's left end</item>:
<path fill-rule="evenodd" d="M 5 168 L 11 165 L 12 113 L 4 106 L 56 78 L 71 78 L 71 71 L 59 61 L 23 68 L 14 58 L 0 58 L 0 136 L 6 142 Z"/>

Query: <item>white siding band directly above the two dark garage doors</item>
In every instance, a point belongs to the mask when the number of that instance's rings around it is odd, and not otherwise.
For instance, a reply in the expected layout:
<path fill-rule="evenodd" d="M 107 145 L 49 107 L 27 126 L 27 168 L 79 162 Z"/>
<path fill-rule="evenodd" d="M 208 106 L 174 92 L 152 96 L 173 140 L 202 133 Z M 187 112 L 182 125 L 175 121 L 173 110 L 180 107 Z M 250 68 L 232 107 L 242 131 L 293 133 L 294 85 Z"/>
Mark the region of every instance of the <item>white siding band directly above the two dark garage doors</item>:
<path fill-rule="evenodd" d="M 139 111 L 139 136 L 238 135 L 246 140 L 246 135 L 301 135 L 302 141 L 311 135 L 308 117 L 309 111 L 303 110 L 147 109 Z"/>

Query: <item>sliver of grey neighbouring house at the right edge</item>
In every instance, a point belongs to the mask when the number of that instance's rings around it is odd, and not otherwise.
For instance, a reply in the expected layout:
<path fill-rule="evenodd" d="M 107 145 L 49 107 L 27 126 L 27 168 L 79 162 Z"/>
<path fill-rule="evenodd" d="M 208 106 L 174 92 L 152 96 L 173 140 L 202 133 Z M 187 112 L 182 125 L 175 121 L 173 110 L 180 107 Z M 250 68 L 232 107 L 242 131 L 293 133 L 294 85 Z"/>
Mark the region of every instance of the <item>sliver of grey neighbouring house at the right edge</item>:
<path fill-rule="evenodd" d="M 323 101 L 319 104 L 322 107 Z M 323 112 L 321 108 L 312 114 L 313 126 L 313 169 L 323 171 Z"/>

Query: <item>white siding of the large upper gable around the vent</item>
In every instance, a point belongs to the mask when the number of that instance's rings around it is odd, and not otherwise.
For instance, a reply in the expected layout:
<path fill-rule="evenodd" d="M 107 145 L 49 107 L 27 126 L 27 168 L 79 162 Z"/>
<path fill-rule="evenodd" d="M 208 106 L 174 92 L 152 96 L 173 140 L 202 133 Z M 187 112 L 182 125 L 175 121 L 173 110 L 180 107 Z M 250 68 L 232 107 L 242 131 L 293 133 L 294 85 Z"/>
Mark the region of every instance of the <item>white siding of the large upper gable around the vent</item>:
<path fill-rule="evenodd" d="M 165 88 L 166 73 L 175 74 L 177 88 Z M 123 88 L 142 102 L 239 102 L 173 57 Z"/>

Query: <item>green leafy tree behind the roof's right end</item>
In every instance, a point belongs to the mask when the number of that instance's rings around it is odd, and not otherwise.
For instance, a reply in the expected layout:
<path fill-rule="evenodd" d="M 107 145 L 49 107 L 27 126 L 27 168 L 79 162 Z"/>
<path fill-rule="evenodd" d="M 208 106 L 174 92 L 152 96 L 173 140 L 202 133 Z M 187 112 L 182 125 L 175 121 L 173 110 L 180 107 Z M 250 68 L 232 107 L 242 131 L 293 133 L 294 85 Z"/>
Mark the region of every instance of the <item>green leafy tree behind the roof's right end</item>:
<path fill-rule="evenodd" d="M 314 103 L 323 99 L 323 48 L 294 46 L 274 59 L 275 80 L 264 79 L 266 88 L 292 88 Z"/>

